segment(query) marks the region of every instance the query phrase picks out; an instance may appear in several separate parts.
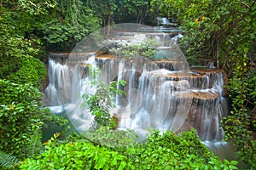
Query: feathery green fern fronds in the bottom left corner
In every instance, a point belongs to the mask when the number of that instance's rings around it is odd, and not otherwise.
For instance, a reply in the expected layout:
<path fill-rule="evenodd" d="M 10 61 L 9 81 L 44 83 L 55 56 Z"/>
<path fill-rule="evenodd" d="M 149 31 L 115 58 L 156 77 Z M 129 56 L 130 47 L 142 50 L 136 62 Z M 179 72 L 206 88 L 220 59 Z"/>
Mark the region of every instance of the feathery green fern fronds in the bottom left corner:
<path fill-rule="evenodd" d="M 20 161 L 16 158 L 16 156 L 11 156 L 0 150 L 0 168 L 5 167 L 10 169 L 17 166 L 19 163 Z"/>

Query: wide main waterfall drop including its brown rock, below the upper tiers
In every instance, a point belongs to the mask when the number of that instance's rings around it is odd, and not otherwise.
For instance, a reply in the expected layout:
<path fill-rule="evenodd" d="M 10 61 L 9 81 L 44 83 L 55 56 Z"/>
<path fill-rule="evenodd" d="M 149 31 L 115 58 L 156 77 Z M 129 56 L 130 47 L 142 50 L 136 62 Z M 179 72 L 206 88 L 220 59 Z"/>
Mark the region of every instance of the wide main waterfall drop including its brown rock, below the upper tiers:
<path fill-rule="evenodd" d="M 166 38 L 159 37 L 159 34 L 153 37 L 160 41 Z M 86 65 L 95 66 L 101 62 L 104 82 L 127 82 L 127 96 L 117 95 L 117 107 L 111 111 L 120 116 L 119 128 L 134 129 L 144 139 L 148 127 L 175 132 L 195 127 L 202 140 L 224 139 L 223 129 L 219 126 L 225 111 L 222 73 L 190 71 L 177 45 L 170 42 L 167 44 L 171 44 L 171 48 L 162 47 L 159 50 L 167 60 L 160 62 L 144 58 L 95 59 L 95 54 L 84 60 L 79 56 L 79 62 L 72 65 L 49 59 L 49 86 L 44 93 L 45 104 L 64 105 L 73 126 L 83 133 L 92 126 L 93 116 L 81 107 L 81 96 L 84 93 L 94 94 L 96 90 L 84 83 L 90 79 L 84 71 Z M 169 65 L 172 65 L 172 70 L 166 69 Z M 196 98 L 195 94 L 198 93 L 207 97 Z M 213 94 L 218 97 L 209 98 Z"/>

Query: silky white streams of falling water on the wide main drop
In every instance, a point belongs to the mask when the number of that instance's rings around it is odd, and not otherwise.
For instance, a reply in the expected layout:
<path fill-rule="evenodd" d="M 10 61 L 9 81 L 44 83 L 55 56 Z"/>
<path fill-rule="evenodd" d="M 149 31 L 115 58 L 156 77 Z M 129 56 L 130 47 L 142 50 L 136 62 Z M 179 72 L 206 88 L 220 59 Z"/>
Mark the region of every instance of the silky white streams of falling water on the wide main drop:
<path fill-rule="evenodd" d="M 61 65 L 55 63 L 54 60 L 49 59 L 50 67 L 49 75 L 51 78 L 49 86 L 45 90 L 45 96 L 49 105 L 63 105 L 66 104 L 65 110 L 69 112 L 69 118 L 79 131 L 88 129 L 93 122 L 93 116 L 88 111 L 84 111 L 82 108 L 81 94 L 93 91 L 90 87 L 84 84 L 84 80 L 87 77 L 82 77 L 84 69 L 79 65 L 74 67 L 68 67 L 67 65 Z M 116 65 L 114 61 L 109 62 L 110 67 Z M 223 130 L 218 131 L 220 118 L 223 116 L 224 108 L 222 103 L 223 97 L 218 99 L 201 99 L 194 100 L 194 106 L 196 108 L 191 109 L 193 95 L 186 95 L 185 98 L 178 98 L 177 94 L 201 92 L 201 93 L 218 93 L 222 94 L 223 84 L 221 74 L 216 76 L 212 88 L 208 82 L 209 77 L 204 75 L 206 82 L 202 82 L 201 86 L 196 85 L 197 88 L 193 88 L 193 82 L 191 78 L 179 81 L 175 78 L 168 77 L 175 75 L 176 71 L 167 71 L 164 69 L 147 71 L 152 69 L 148 65 L 143 66 L 143 72 L 138 80 L 136 80 L 136 63 L 130 65 L 131 69 L 125 70 L 125 60 L 119 62 L 117 79 L 127 79 L 127 85 L 125 91 L 128 92 L 127 97 L 123 100 L 116 97 L 119 107 L 113 109 L 113 113 L 121 115 L 119 122 L 120 128 L 135 129 L 137 133 L 145 133 L 148 127 L 158 128 L 160 130 L 173 130 L 177 131 L 183 126 L 186 121 L 189 111 L 194 109 L 196 113 L 196 122 L 200 124 L 199 135 L 201 139 L 223 139 Z M 108 76 L 113 74 L 108 66 L 104 67 L 103 80 L 109 82 Z M 72 74 L 71 74 L 72 73 Z M 67 75 L 64 75 L 67 74 Z M 55 76 L 54 76 L 55 75 Z M 70 76 L 72 75 L 72 76 Z M 64 77 L 64 79 L 63 79 Z M 167 77 L 167 78 L 166 78 Z M 65 82 L 65 83 L 64 83 Z M 67 88 L 69 87 L 69 88 Z M 72 87 L 72 88 L 71 88 Z M 204 87 L 205 89 L 198 89 L 198 87 Z M 207 87 L 207 88 L 206 88 Z M 63 93 L 65 89 L 65 93 Z M 61 95 L 66 94 L 66 95 Z M 69 94 L 69 95 L 67 95 Z M 65 102 L 63 102 L 63 100 Z M 68 104 L 68 105 L 67 105 Z M 213 122 L 213 124 L 212 124 Z M 215 128 L 214 134 L 212 134 L 212 128 Z"/>

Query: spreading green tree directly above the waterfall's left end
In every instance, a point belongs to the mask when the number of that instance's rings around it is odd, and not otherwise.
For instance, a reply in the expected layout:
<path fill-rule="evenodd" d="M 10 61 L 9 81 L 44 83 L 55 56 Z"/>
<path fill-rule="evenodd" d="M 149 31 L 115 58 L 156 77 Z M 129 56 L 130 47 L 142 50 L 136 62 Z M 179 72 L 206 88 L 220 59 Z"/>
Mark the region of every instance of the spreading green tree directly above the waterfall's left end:
<path fill-rule="evenodd" d="M 71 51 L 76 42 L 99 28 L 98 20 L 81 1 L 58 5 L 57 16 L 42 25 L 43 39 L 49 50 Z"/>

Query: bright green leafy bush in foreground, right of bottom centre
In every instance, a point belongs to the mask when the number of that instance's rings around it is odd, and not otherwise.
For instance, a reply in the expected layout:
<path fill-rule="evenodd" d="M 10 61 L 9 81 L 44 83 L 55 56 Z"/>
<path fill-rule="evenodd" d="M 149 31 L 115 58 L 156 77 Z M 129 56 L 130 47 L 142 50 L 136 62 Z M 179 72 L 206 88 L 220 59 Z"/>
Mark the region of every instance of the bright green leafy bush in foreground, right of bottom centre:
<path fill-rule="evenodd" d="M 133 156 L 136 167 L 143 169 L 237 169 L 236 161 L 221 162 L 201 144 L 194 129 L 178 135 L 154 131 Z"/>

